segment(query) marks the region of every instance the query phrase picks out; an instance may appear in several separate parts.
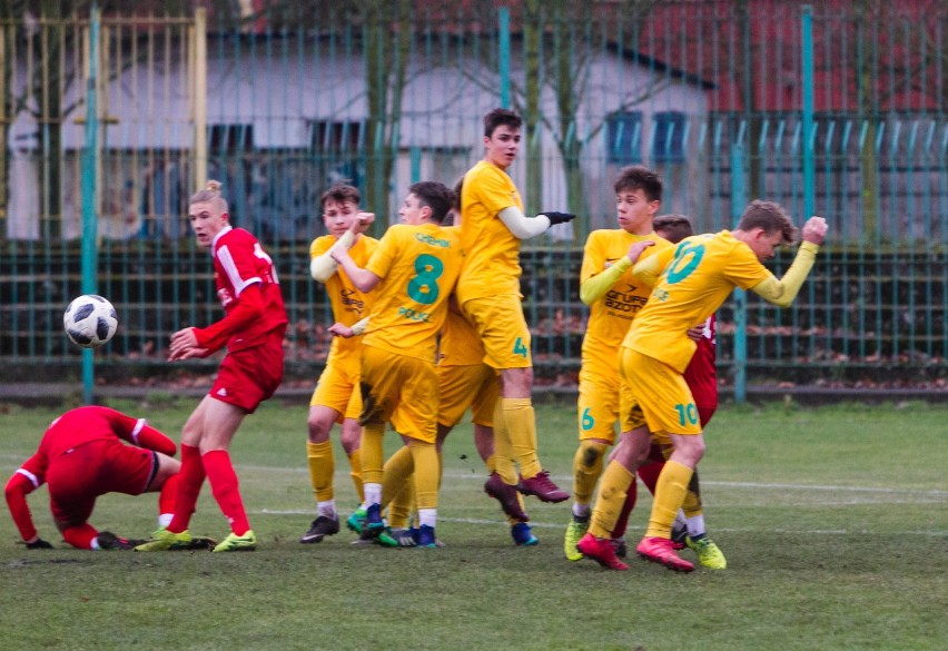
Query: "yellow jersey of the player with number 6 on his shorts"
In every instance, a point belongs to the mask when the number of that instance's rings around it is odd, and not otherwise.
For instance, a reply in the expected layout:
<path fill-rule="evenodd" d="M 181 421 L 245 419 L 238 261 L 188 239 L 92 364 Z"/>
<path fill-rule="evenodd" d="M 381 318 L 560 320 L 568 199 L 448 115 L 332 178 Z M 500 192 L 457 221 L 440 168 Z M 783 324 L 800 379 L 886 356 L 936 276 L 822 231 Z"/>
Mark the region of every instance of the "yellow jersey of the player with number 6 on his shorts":
<path fill-rule="evenodd" d="M 670 241 L 654 233 L 634 235 L 621 228 L 590 233 L 583 249 L 580 285 L 624 258 L 633 243 L 646 239 L 651 239 L 655 245 L 642 251 L 639 259 L 673 247 Z M 619 347 L 629 333 L 632 319 L 649 299 L 651 289 L 649 285 L 635 278 L 630 267 L 605 296 L 590 305 L 590 319 L 583 337 L 583 365 L 593 363 L 601 368 L 615 367 Z"/>

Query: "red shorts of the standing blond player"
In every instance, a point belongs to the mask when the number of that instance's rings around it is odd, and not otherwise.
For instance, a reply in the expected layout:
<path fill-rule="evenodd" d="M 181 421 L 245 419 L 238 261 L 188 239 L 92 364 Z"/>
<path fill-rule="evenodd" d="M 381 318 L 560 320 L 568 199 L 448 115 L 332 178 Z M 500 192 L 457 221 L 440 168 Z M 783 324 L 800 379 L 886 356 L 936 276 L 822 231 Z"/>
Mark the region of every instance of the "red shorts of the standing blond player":
<path fill-rule="evenodd" d="M 283 334 L 259 346 L 227 353 L 208 394 L 253 414 L 283 382 Z"/>

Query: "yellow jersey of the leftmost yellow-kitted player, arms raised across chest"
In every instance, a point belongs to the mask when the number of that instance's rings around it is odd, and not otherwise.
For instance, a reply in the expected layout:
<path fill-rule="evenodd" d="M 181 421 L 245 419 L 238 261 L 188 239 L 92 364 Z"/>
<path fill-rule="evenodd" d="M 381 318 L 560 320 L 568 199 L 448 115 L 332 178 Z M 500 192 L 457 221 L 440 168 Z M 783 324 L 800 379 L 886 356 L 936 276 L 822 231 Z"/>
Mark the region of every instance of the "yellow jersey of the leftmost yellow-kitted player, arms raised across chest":
<path fill-rule="evenodd" d="M 334 244 L 336 244 L 336 238 L 332 235 L 317 237 L 309 245 L 309 259 L 325 254 Z M 377 246 L 377 239 L 361 235 L 349 248 L 349 256 L 357 266 L 363 267 Z M 372 294 L 363 294 L 356 289 L 343 269 L 336 269 L 336 273 L 326 280 L 326 294 L 329 296 L 329 305 L 333 307 L 333 318 L 347 326 L 368 315 L 375 300 Z M 361 345 L 361 337 L 333 337 L 329 358 L 334 363 L 352 362 L 358 365 Z"/>

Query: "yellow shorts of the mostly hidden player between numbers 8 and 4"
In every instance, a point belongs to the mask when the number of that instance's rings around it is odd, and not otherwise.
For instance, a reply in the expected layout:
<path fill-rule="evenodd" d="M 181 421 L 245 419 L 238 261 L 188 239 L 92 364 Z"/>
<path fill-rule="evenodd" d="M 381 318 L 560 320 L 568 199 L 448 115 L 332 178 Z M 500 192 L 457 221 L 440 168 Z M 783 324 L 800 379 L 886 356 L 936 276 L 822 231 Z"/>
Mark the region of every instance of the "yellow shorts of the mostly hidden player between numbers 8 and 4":
<path fill-rule="evenodd" d="M 501 378 L 494 368 L 486 364 L 438 366 L 437 379 L 441 389 L 440 425 L 454 427 L 471 407 L 473 423 L 494 426 L 494 405 L 501 395 Z"/>

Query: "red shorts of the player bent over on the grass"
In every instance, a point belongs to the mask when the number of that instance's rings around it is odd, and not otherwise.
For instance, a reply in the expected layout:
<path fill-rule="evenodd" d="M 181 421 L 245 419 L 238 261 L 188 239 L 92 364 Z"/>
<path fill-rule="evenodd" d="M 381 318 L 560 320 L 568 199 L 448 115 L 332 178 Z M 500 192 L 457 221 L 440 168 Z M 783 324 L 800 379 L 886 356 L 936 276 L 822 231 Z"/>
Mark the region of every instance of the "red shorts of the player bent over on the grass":
<path fill-rule="evenodd" d="M 140 495 L 157 468 L 154 452 L 118 438 L 73 447 L 49 463 L 46 481 L 52 516 L 57 522 L 81 524 L 89 520 L 96 497 L 106 493 Z"/>

